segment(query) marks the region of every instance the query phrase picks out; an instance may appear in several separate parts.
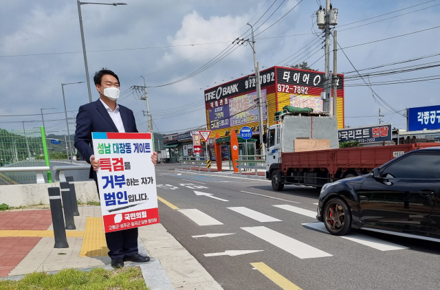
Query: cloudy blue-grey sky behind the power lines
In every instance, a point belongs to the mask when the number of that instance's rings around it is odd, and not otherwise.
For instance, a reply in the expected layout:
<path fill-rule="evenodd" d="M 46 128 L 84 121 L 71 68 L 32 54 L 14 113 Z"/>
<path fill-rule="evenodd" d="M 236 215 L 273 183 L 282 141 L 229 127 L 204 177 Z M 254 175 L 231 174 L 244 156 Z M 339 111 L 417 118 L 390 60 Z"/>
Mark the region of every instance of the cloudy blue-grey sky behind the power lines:
<path fill-rule="evenodd" d="M 314 30 L 318 33 L 320 30 L 313 24 L 315 17 L 311 16 L 318 10 L 318 3 L 325 4 L 325 0 L 303 0 L 294 8 L 298 2 L 126 0 L 128 5 L 117 7 L 82 5 L 93 98 L 98 99 L 92 80 L 94 72 L 102 67 L 115 71 L 120 77 L 121 92 L 125 91 L 120 104 L 133 110 L 140 131 L 144 131 L 146 118 L 142 110 L 145 104 L 129 90 L 132 85 L 143 85 L 140 76 L 144 76 L 146 85 L 151 87 L 148 99 L 155 131 L 172 133 L 203 125 L 206 123 L 203 90 L 223 80 L 252 73 L 252 49 L 245 46 L 232 47 L 233 52 L 209 65 L 234 38 L 248 34 L 248 21 L 259 27 L 256 34 L 278 21 L 256 36 L 261 67 L 294 65 L 306 60 L 314 69 L 322 71 L 322 41 L 314 34 Z M 440 1 L 333 0 L 333 6 L 339 10 L 338 43 L 347 47 L 344 52 L 356 69 L 439 53 L 440 28 L 437 28 L 436 19 L 439 19 Z M 294 10 L 289 12 L 292 8 Z M 3 0 L 0 27 L 0 128 L 21 129 L 22 121 L 39 121 L 39 115 L 22 115 L 38 114 L 41 108 L 56 107 L 45 113 L 63 111 L 61 83 L 85 81 L 76 1 Z M 417 33 L 409 34 L 412 32 Z M 399 37 L 391 38 L 394 36 Z M 369 43 L 384 38 L 391 39 Z M 363 43 L 369 44 L 359 45 Z M 292 54 L 294 56 L 288 58 Z M 431 56 L 371 71 L 436 65 L 439 58 Z M 203 68 L 200 74 L 173 85 L 157 87 L 185 78 L 200 68 Z M 341 51 L 338 71 L 353 71 Z M 362 74 L 366 72 L 361 71 Z M 399 111 L 439 104 L 438 72 L 439 68 L 433 67 L 366 78 L 366 81 L 373 84 L 403 82 L 373 86 L 382 100 Z M 408 82 L 427 76 L 433 77 L 428 81 Z M 381 108 L 384 122 L 406 128 L 406 119 L 399 115 L 404 112 L 395 113 L 379 97 L 373 98 L 369 87 L 358 86 L 364 84 L 362 79 L 346 84 L 355 85 L 345 89 L 346 125 L 377 124 Z M 68 111 L 77 110 L 89 101 L 85 82 L 65 86 L 65 95 Z M 69 117 L 73 118 L 75 113 L 69 113 Z M 62 118 L 63 114 L 45 115 L 47 131 L 64 133 L 66 126 Z M 26 129 L 34 126 L 41 126 L 41 122 L 25 122 Z M 73 130 L 73 125 L 70 128 Z"/>

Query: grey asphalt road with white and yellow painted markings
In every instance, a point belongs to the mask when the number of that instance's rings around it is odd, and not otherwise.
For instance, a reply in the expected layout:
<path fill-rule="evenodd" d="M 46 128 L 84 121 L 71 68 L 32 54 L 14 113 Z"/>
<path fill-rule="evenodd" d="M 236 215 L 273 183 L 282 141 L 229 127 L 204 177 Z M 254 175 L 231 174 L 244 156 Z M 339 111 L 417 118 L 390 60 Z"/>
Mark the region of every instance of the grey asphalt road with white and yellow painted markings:
<path fill-rule="evenodd" d="M 157 167 L 158 197 L 179 208 L 159 201 L 160 222 L 223 289 L 440 289 L 439 243 L 331 236 L 313 217 L 315 188 Z"/>

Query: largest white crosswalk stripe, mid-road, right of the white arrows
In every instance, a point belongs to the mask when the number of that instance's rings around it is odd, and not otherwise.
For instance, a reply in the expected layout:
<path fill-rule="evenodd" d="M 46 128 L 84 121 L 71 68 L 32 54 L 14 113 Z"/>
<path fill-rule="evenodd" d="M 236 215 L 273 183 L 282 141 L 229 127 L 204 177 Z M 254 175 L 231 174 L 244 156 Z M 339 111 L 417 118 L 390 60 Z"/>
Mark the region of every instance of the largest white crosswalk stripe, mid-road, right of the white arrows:
<path fill-rule="evenodd" d="M 272 245 L 279 247 L 280 249 L 283 249 L 287 253 L 297 256 L 300 259 L 333 256 L 329 253 L 321 251 L 320 249 L 316 249 L 316 247 L 312 247 L 311 245 L 307 245 L 306 243 L 286 236 L 285 234 L 270 230 L 267 227 L 241 227 L 241 229 L 253 234 L 254 236 L 258 236 L 267 243 L 271 243 Z"/>

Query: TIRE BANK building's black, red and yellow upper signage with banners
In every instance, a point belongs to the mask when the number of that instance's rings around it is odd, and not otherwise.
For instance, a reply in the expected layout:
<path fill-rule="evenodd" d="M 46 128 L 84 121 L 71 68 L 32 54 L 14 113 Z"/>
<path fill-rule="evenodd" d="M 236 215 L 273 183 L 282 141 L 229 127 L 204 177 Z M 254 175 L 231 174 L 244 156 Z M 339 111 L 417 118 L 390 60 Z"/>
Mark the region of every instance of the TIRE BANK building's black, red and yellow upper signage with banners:
<path fill-rule="evenodd" d="M 289 105 L 322 111 L 321 93 L 325 73 L 287 67 L 271 67 L 260 72 L 263 122 L 274 124 L 274 113 Z M 338 75 L 338 128 L 344 128 L 344 76 Z M 332 92 L 333 96 L 333 92 Z M 204 91 L 208 130 L 215 136 L 229 135 L 248 126 L 258 134 L 259 100 L 254 74 Z M 332 98 L 333 99 L 333 98 Z M 333 108 L 333 106 L 331 106 Z"/>

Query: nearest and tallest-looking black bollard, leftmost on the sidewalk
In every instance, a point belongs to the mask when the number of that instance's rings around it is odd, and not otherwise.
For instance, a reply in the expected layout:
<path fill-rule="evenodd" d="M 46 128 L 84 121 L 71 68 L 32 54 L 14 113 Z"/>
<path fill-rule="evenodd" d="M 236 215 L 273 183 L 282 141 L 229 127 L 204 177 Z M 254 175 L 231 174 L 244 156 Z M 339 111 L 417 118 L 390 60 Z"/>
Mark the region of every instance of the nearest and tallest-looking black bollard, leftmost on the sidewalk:
<path fill-rule="evenodd" d="M 47 188 L 47 191 L 49 192 L 50 214 L 52 214 L 52 225 L 54 226 L 54 248 L 69 247 L 64 227 L 60 188 Z"/>

